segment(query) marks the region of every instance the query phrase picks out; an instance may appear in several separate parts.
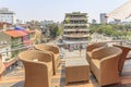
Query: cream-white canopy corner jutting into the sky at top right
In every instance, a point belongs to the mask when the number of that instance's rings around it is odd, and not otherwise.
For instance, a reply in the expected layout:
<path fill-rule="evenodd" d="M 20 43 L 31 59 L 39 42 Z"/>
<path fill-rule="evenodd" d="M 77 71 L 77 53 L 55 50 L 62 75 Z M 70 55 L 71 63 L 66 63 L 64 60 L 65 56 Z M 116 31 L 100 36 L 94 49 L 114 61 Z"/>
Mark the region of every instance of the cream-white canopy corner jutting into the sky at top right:
<path fill-rule="evenodd" d="M 112 12 L 106 15 L 107 17 L 111 17 L 115 20 L 126 20 L 131 16 L 131 0 L 117 8 Z"/>

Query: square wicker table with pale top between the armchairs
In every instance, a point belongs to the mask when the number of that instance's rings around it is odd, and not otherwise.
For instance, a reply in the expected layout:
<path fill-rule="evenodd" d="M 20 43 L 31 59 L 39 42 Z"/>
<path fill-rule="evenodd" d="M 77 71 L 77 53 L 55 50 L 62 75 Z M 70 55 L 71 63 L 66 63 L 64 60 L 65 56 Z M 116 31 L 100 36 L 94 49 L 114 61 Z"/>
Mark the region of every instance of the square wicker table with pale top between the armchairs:
<path fill-rule="evenodd" d="M 66 59 L 66 84 L 90 79 L 90 65 L 85 59 Z"/>

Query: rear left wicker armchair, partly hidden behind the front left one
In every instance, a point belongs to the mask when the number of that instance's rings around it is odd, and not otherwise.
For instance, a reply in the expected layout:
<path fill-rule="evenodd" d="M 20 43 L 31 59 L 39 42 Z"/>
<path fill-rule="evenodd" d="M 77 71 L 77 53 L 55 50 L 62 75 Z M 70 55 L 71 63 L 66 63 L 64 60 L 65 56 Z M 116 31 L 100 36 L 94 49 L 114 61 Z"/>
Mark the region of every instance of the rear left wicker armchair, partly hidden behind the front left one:
<path fill-rule="evenodd" d="M 57 46 L 51 46 L 51 45 L 36 45 L 35 48 L 40 51 L 47 51 L 51 53 L 52 55 L 52 66 L 53 66 L 53 75 L 57 72 L 57 67 L 60 64 L 60 58 L 59 58 L 59 48 Z"/>

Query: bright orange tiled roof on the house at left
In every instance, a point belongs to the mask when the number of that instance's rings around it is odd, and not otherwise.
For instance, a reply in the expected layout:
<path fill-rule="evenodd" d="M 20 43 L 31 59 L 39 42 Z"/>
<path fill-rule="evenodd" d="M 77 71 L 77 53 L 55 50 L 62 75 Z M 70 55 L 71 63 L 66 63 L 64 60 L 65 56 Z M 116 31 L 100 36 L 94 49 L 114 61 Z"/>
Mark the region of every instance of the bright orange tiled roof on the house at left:
<path fill-rule="evenodd" d="M 22 36 L 26 36 L 27 33 L 23 32 L 23 30 L 7 30 L 4 32 L 7 35 L 12 36 L 12 37 L 22 37 Z"/>

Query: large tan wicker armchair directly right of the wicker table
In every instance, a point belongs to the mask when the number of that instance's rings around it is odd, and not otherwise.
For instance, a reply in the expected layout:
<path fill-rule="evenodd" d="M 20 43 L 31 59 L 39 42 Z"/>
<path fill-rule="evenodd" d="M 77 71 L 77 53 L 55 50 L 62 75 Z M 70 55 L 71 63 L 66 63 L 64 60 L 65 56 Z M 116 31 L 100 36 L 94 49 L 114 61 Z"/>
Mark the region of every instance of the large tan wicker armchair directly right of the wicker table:
<path fill-rule="evenodd" d="M 117 47 L 106 47 L 92 53 L 91 70 L 99 86 L 120 82 L 118 61 L 121 53 L 121 49 Z"/>

